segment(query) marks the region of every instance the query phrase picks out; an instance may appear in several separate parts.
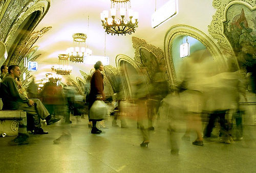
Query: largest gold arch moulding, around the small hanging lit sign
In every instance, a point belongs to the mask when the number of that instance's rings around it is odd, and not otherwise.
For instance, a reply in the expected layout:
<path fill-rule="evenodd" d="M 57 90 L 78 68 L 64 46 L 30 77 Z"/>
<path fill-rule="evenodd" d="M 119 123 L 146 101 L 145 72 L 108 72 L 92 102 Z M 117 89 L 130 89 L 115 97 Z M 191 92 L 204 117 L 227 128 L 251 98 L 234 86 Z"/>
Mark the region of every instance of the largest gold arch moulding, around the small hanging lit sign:
<path fill-rule="evenodd" d="M 206 34 L 194 27 L 190 27 L 184 24 L 177 24 L 171 27 L 164 37 L 165 62 L 167 66 L 167 73 L 170 79 L 169 84 L 171 86 L 175 85 L 176 83 L 176 72 L 173 62 L 172 46 L 174 39 L 180 35 L 196 38 L 198 41 L 205 45 L 214 59 L 224 61 L 218 46 Z"/>

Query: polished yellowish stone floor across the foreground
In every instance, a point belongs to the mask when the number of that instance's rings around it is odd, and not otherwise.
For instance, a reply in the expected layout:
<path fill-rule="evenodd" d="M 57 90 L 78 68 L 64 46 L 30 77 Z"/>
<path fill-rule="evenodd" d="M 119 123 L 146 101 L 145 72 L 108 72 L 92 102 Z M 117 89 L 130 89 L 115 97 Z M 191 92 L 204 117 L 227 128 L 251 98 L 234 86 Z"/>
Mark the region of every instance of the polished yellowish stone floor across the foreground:
<path fill-rule="evenodd" d="M 70 125 L 62 119 L 44 127 L 47 135 L 29 135 L 29 144 L 9 145 L 14 137 L 2 137 L 0 172 L 256 172 L 256 126 L 244 126 L 243 140 L 231 144 L 211 139 L 195 146 L 192 134 L 176 156 L 170 154 L 165 119 L 156 120 L 151 142 L 142 148 L 136 121 L 128 119 L 123 129 L 111 127 L 112 118 L 100 135 L 90 133 L 88 119 L 72 117 Z M 71 137 L 54 144 L 63 132 Z"/>

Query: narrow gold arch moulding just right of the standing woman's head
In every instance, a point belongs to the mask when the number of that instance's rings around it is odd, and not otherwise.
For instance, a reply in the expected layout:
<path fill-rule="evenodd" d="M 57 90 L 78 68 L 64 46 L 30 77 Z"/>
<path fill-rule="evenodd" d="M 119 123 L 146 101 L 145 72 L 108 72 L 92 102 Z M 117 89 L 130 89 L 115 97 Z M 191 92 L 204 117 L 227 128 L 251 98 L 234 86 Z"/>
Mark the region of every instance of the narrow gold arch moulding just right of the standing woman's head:
<path fill-rule="evenodd" d="M 145 75 L 142 73 L 142 71 L 140 70 L 139 65 L 130 57 L 123 55 L 123 54 L 119 54 L 116 56 L 116 66 L 117 66 L 117 71 L 118 74 L 121 77 L 121 83 L 122 83 L 122 90 L 123 90 L 123 97 L 124 100 L 130 100 L 131 99 L 131 88 L 129 85 L 127 85 L 126 81 L 122 78 L 124 76 L 124 72 L 123 70 L 120 69 L 120 67 L 122 66 L 122 62 L 125 61 L 127 63 L 130 63 L 138 72 L 138 74 L 144 79 L 144 82 L 146 83 L 146 79 L 145 79 Z M 146 86 L 146 91 L 148 93 L 148 88 Z"/>

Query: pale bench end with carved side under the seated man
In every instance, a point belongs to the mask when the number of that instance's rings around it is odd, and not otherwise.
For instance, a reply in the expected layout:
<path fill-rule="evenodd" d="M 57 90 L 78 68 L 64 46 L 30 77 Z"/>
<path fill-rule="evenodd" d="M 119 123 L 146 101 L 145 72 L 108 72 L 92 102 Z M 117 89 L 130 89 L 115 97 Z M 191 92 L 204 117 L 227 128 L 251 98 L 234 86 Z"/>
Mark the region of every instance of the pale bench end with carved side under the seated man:
<path fill-rule="evenodd" d="M 0 111 L 0 135 L 18 136 L 19 121 L 26 118 L 27 113 L 19 110 Z"/>

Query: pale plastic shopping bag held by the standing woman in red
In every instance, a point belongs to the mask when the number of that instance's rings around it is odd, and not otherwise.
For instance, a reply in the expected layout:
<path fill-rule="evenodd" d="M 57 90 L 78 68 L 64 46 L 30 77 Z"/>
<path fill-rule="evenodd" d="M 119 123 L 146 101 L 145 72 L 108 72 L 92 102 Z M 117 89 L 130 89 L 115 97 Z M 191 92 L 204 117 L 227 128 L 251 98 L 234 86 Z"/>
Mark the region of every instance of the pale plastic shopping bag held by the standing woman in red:
<path fill-rule="evenodd" d="M 90 119 L 105 119 L 109 114 L 108 105 L 103 101 L 95 101 L 90 109 Z"/>

